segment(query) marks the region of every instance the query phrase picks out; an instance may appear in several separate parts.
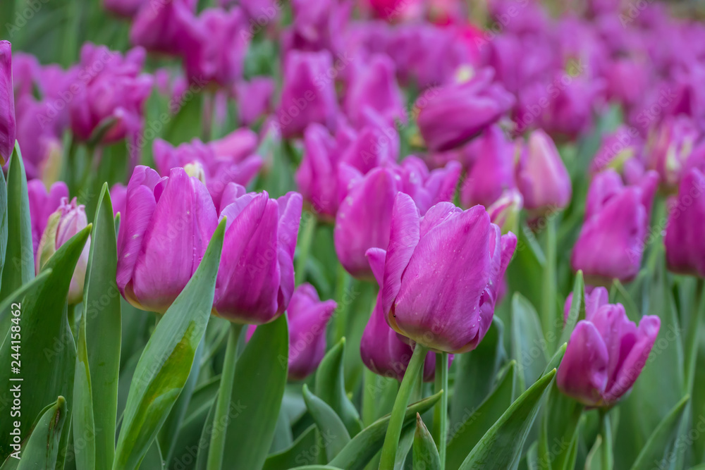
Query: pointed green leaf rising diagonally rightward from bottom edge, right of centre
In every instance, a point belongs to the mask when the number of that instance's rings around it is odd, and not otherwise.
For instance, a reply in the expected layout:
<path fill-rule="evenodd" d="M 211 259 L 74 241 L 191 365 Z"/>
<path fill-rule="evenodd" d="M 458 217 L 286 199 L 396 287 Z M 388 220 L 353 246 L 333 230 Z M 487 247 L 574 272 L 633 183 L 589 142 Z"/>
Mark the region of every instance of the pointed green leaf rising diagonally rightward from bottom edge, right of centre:
<path fill-rule="evenodd" d="M 515 470 L 519 466 L 527 435 L 539 412 L 541 397 L 555 375 L 556 369 L 553 369 L 522 393 L 472 448 L 460 469 Z"/>

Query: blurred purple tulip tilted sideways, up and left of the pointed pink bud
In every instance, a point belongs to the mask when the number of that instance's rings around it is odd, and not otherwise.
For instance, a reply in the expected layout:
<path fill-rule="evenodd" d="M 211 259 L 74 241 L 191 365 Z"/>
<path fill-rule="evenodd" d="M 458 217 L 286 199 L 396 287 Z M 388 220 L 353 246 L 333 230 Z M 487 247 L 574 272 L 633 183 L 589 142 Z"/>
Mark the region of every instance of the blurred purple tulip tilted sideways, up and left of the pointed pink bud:
<path fill-rule="evenodd" d="M 417 103 L 419 131 L 431 151 L 460 147 L 510 109 L 513 97 L 492 78 L 490 69 L 480 70 L 468 82 L 442 87 L 425 106 Z"/>

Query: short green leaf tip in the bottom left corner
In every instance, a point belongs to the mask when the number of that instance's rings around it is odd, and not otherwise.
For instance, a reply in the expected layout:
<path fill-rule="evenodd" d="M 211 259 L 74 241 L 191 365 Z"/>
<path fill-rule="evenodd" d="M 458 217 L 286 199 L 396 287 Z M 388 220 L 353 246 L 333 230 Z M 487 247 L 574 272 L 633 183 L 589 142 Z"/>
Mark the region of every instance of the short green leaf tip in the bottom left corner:
<path fill-rule="evenodd" d="M 54 404 L 44 409 L 22 450 L 17 470 L 54 469 L 61 450 L 66 414 L 66 400 L 61 396 Z"/>

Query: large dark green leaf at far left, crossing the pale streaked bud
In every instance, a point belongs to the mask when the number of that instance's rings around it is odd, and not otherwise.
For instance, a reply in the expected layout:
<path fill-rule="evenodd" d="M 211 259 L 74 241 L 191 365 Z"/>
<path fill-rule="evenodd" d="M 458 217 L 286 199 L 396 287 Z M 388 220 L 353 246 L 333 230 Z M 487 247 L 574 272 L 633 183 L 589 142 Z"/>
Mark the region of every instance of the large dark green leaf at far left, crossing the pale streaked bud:
<path fill-rule="evenodd" d="M 8 383 L 11 376 L 20 376 L 24 379 L 23 389 L 32 390 L 31 394 L 23 395 L 22 413 L 28 417 L 20 426 L 23 435 L 27 435 L 32 419 L 56 397 L 65 397 L 66 406 L 71 408 L 76 347 L 68 325 L 66 295 L 90 230 L 88 225 L 56 250 L 44 266 L 44 270 L 51 270 L 45 282 L 13 299 L 20 304 L 22 365 L 20 373 L 11 373 L 9 365 L 13 350 L 11 341 L 6 340 L 0 349 L 0 363 L 8 364 L 8 367 L 0 369 L 0 383 Z M 8 412 L 8 404 L 12 402 L 10 393 L 9 387 L 0 389 L 0 416 Z M 71 421 L 70 416 L 68 419 Z M 0 420 L 0 435 L 8 435 L 10 427 L 11 420 Z M 63 428 L 62 446 L 68 444 L 69 428 Z M 7 443 L 0 442 L 0 459 L 5 459 L 8 454 Z"/>

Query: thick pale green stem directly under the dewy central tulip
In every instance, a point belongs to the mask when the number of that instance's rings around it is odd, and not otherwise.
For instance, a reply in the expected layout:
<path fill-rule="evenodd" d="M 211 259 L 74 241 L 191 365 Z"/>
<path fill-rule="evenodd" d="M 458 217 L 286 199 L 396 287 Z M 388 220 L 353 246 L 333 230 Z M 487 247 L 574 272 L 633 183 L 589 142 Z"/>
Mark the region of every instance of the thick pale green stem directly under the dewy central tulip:
<path fill-rule="evenodd" d="M 393 470 L 394 468 L 401 428 L 404 425 L 406 407 L 407 404 L 409 404 L 411 392 L 416 385 L 419 371 L 421 371 L 421 368 L 424 366 L 424 360 L 426 359 L 426 353 L 428 351 L 427 347 L 419 345 L 419 343 L 417 343 L 414 348 L 414 354 L 412 354 L 409 365 L 404 373 L 399 392 L 397 393 L 396 400 L 394 400 L 392 414 L 389 417 L 389 425 L 387 427 L 387 433 L 384 436 L 384 445 L 382 445 L 382 453 L 379 460 L 379 470 Z"/>

